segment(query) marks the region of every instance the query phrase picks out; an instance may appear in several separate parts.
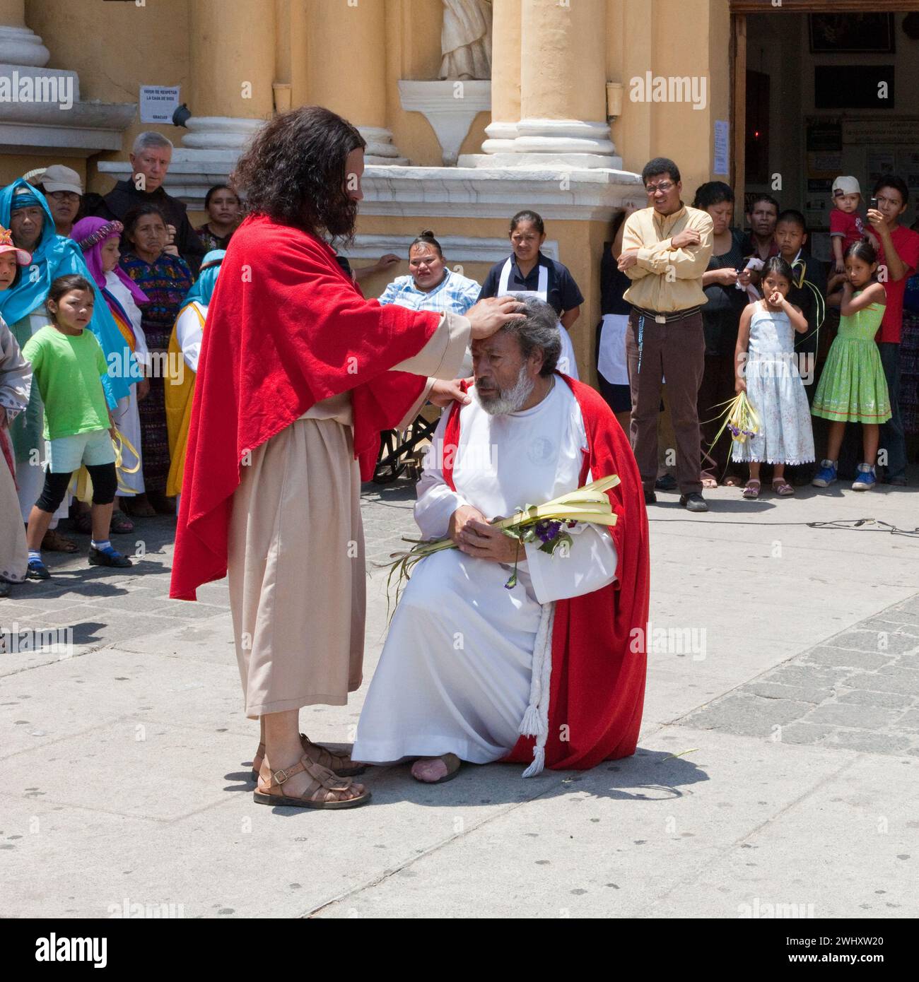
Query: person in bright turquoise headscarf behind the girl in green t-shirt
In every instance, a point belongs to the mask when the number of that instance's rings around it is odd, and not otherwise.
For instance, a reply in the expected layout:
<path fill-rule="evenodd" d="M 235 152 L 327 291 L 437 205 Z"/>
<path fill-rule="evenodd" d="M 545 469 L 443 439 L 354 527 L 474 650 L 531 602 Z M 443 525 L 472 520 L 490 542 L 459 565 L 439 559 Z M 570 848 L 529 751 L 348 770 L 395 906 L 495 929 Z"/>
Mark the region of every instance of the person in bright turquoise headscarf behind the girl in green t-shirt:
<path fill-rule="evenodd" d="M 22 178 L 0 190 L 0 225 L 13 233 L 13 241 L 32 254 L 31 264 L 20 271 L 9 290 L 0 293 L 0 316 L 9 324 L 20 347 L 46 324 L 50 323 L 44 301 L 51 283 L 59 276 L 77 274 L 91 282 L 80 246 L 54 229 L 54 218 L 45 196 Z M 29 246 L 21 243 L 29 243 Z M 98 289 L 89 328 L 96 336 L 108 363 L 108 374 L 102 377 L 102 388 L 109 408 L 127 396 L 139 381 L 134 356 L 115 326 L 108 306 Z M 44 480 L 45 448 L 42 439 L 44 409 L 37 388 L 32 387 L 29 408 L 11 427 L 17 461 L 19 502 L 23 520 L 27 521 L 32 505 L 41 494 Z M 41 464 L 40 466 L 36 464 Z M 67 515 L 67 499 L 55 518 Z M 56 532 L 48 537 L 55 544 L 44 548 L 73 552 L 77 547 Z"/>

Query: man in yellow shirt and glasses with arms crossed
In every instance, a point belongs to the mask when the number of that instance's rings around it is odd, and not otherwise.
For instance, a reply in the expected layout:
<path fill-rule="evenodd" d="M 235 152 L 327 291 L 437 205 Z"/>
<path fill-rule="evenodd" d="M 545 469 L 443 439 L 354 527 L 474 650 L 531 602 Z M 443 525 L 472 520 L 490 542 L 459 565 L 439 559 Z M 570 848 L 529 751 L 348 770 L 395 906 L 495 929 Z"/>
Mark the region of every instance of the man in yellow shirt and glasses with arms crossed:
<path fill-rule="evenodd" d="M 626 335 L 632 449 L 650 505 L 657 501 L 658 415 L 665 377 L 680 504 L 690 512 L 707 512 L 696 399 L 705 367 L 702 274 L 712 256 L 712 218 L 680 200 L 683 186 L 672 160 L 649 161 L 642 181 L 651 207 L 626 219 L 619 255 L 619 269 L 632 281 L 624 295 L 632 304 Z"/>

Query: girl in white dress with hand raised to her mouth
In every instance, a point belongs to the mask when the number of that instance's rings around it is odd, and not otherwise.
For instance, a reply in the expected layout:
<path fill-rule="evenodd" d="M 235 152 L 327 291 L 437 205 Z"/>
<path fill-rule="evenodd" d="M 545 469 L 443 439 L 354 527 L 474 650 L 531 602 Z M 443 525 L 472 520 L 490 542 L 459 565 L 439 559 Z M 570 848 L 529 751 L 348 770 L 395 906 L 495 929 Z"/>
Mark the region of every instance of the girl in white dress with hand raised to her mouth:
<path fill-rule="evenodd" d="M 773 464 L 773 490 L 779 497 L 794 494 L 785 480 L 785 464 L 814 460 L 814 434 L 804 383 L 794 353 L 795 332 L 807 331 L 800 307 L 785 297 L 792 271 L 781 256 L 763 269 L 764 300 L 746 306 L 740 315 L 735 350 L 736 391 L 746 392 L 760 420 L 759 431 L 743 443 L 734 442 L 735 461 L 750 464 L 744 498 L 760 494 L 760 465 Z"/>

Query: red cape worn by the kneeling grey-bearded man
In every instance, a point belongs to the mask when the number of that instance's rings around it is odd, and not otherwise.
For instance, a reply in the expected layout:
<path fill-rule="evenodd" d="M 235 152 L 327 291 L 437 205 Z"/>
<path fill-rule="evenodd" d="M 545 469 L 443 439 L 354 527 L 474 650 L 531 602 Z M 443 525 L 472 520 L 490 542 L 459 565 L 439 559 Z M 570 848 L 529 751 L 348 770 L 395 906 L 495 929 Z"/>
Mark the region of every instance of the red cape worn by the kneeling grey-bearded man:
<path fill-rule="evenodd" d="M 606 492 L 618 517 L 609 529 L 618 557 L 615 582 L 555 602 L 546 767 L 586 770 L 631 756 L 638 742 L 647 668 L 648 517 L 638 465 L 612 411 L 590 386 L 556 374 L 584 417 L 588 448 L 581 484 L 588 469 L 594 480 L 620 478 Z M 459 446 L 460 409 L 454 403 L 450 410 L 445 447 Z M 452 456 L 444 454 L 443 476 L 455 491 Z M 529 764 L 533 746 L 533 736 L 521 736 L 504 759 Z"/>

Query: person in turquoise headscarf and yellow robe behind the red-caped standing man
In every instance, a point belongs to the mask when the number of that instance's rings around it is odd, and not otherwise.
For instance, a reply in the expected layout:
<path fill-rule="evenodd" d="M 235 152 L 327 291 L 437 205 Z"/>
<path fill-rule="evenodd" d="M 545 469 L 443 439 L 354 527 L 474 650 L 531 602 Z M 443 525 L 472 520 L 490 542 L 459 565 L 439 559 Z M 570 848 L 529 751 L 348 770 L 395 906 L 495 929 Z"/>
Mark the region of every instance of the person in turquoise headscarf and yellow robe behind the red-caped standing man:
<path fill-rule="evenodd" d="M 217 284 L 220 263 L 226 251 L 211 249 L 201 260 L 201 272 L 195 285 L 188 292 L 185 303 L 176 318 L 169 339 L 166 358 L 166 427 L 169 432 L 169 477 L 166 494 L 182 492 L 185 476 L 185 451 L 189 439 L 189 423 L 192 419 L 192 402 L 195 397 L 195 378 L 198 373 L 198 357 L 204 337 L 204 321 L 207 307 Z M 178 508 L 178 498 L 176 499 Z"/>

